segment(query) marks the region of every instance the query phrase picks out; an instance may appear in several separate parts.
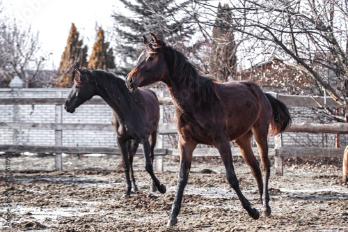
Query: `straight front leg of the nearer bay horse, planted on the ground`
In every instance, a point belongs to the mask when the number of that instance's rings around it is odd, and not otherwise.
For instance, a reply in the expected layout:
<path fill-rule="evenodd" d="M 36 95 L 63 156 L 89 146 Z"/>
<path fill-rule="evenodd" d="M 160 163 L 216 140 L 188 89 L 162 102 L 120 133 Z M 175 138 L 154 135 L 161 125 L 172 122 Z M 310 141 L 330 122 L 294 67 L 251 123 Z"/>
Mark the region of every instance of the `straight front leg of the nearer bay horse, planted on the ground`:
<path fill-rule="evenodd" d="M 175 198 L 172 206 L 172 212 L 168 219 L 167 226 L 173 226 L 177 223 L 177 215 L 179 215 L 182 195 L 184 194 L 184 188 L 187 185 L 187 180 L 189 178 L 189 172 L 191 169 L 192 153 L 196 148 L 197 143 L 191 142 L 187 143 L 181 137 L 179 140 L 179 153 L 180 153 L 180 171 L 177 178 L 177 190 L 175 193 Z"/>

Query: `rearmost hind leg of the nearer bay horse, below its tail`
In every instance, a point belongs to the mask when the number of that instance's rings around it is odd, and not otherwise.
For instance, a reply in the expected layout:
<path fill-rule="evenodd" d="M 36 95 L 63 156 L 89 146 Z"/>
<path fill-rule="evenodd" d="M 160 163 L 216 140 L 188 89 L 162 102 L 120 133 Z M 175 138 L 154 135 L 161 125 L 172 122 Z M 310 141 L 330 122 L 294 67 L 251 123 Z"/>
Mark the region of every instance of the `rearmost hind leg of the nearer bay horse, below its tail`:
<path fill-rule="evenodd" d="M 263 178 L 263 196 L 262 207 L 264 208 L 264 214 L 266 216 L 271 215 L 271 208 L 269 207 L 269 192 L 268 182 L 271 172 L 271 164 L 268 157 L 268 142 L 267 142 L 268 125 L 264 127 L 254 127 L 254 137 L 256 144 L 258 144 L 258 150 L 260 153 L 261 170 Z"/>

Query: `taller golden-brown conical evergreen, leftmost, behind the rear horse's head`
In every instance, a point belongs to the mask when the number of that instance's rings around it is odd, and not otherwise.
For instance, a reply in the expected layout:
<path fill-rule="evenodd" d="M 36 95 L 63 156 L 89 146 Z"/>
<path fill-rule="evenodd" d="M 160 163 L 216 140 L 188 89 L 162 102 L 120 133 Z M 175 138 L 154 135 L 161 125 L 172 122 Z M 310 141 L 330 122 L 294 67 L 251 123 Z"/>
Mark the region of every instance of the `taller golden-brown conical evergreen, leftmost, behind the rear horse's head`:
<path fill-rule="evenodd" d="M 82 45 L 82 40 L 79 40 L 79 32 L 77 32 L 76 26 L 72 24 L 68 42 L 58 68 L 56 87 L 70 88 L 74 80 L 74 66 L 86 67 L 88 48 L 86 45 L 84 47 Z"/>

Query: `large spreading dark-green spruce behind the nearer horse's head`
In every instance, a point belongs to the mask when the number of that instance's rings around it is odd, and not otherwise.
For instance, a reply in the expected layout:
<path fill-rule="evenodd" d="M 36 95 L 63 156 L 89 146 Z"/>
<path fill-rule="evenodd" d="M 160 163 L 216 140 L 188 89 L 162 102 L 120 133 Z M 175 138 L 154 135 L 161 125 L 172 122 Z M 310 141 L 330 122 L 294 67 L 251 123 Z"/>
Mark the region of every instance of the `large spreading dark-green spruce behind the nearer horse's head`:
<path fill-rule="evenodd" d="M 127 15 L 115 12 L 116 54 L 120 55 L 121 64 L 118 74 L 127 75 L 132 70 L 139 54 L 143 50 L 142 36 L 155 33 L 169 45 L 175 45 L 184 51 L 183 43 L 191 41 L 195 27 L 182 10 L 191 1 L 175 3 L 175 0 L 143 1 L 120 0 L 127 9 Z M 187 14 L 186 14 L 187 15 Z"/>

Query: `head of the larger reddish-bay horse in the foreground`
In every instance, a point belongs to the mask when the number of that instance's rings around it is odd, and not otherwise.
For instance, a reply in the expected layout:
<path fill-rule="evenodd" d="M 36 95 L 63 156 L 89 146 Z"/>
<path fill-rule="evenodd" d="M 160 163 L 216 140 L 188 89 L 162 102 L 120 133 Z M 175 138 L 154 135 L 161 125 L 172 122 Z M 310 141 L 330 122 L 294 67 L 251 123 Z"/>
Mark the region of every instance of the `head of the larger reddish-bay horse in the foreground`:
<path fill-rule="evenodd" d="M 139 86 L 146 86 L 159 82 L 168 76 L 168 68 L 164 59 L 164 47 L 166 45 L 151 33 L 151 41 L 143 36 L 145 50 L 141 53 L 138 63 L 126 77 L 126 85 L 135 90 Z"/>

